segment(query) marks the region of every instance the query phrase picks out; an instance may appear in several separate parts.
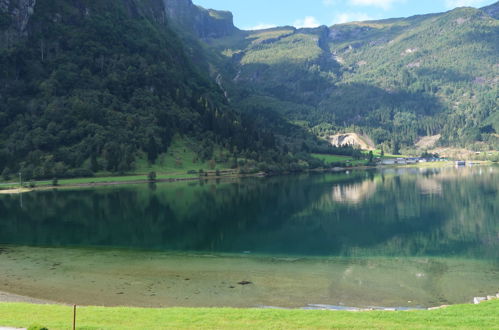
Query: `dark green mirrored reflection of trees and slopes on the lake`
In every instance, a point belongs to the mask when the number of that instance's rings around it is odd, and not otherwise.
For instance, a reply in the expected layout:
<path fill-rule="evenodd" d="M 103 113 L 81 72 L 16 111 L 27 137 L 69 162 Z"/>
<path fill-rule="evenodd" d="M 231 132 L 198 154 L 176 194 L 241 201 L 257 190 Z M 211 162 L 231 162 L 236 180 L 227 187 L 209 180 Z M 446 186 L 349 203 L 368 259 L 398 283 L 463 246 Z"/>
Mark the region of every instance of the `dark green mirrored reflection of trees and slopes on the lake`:
<path fill-rule="evenodd" d="M 497 258 L 498 188 L 465 169 L 36 192 L 0 197 L 0 242 Z"/>

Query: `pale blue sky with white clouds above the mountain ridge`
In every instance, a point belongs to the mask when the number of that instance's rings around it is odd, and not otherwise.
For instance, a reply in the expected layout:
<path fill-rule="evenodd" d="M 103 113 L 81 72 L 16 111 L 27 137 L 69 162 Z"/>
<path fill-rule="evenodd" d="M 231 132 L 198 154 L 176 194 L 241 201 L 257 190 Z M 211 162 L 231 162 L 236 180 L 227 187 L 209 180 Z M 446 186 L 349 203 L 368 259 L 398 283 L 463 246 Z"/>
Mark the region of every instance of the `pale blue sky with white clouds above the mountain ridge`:
<path fill-rule="evenodd" d="M 314 27 L 358 20 L 407 17 L 497 0 L 193 0 L 205 8 L 230 10 L 241 29 L 281 25 Z"/>

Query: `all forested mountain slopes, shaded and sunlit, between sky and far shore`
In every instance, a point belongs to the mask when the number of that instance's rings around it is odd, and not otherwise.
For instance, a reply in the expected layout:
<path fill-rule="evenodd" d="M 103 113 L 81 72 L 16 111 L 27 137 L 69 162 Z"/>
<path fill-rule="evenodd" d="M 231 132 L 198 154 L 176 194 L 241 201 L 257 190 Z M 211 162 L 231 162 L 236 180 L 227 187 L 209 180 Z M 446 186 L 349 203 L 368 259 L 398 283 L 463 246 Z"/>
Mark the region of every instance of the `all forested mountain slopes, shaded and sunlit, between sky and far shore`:
<path fill-rule="evenodd" d="M 498 8 L 241 31 L 191 0 L 0 0 L 0 172 L 125 173 L 174 138 L 267 171 L 346 131 L 499 149 Z"/>

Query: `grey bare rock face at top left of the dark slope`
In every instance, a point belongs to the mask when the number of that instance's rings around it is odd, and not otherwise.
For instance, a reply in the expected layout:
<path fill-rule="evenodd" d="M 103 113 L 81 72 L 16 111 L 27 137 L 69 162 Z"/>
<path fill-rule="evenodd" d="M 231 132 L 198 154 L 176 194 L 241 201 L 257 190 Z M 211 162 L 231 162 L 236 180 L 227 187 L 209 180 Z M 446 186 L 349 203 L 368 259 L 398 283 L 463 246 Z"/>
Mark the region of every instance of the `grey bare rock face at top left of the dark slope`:
<path fill-rule="evenodd" d="M 36 0 L 0 0 L 0 48 L 9 48 L 27 36 Z"/>

